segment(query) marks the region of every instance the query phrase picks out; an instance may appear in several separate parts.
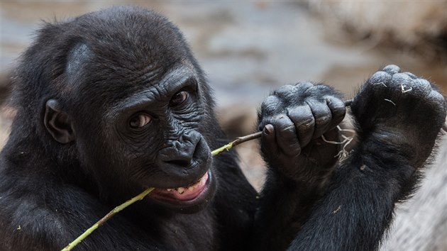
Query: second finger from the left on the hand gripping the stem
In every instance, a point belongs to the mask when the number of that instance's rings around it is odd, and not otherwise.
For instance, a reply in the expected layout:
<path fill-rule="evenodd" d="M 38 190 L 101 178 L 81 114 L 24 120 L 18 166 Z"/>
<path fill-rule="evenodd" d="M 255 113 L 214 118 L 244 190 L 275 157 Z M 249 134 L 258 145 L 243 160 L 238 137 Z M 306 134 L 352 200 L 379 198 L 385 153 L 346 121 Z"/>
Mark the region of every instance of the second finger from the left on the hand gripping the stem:
<path fill-rule="evenodd" d="M 315 120 L 311 108 L 308 105 L 297 106 L 290 108 L 288 113 L 297 130 L 299 146 L 305 147 L 314 135 Z"/>

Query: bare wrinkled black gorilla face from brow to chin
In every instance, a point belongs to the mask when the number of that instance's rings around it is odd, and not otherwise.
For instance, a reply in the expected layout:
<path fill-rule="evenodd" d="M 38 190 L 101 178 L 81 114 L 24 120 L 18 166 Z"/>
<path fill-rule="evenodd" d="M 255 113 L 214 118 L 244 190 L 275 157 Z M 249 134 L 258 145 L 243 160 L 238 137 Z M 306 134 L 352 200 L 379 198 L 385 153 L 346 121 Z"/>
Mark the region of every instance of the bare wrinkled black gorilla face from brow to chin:
<path fill-rule="evenodd" d="M 182 211 L 202 208 L 216 184 L 210 149 L 198 130 L 204 104 L 197 78 L 191 69 L 178 67 L 157 83 L 142 85 L 107 111 L 107 121 L 114 122 L 104 132 L 111 132 L 107 142 L 114 144 L 107 144 L 106 155 L 121 160 L 99 166 L 120 163 L 115 175 L 140 191 L 155 187 L 149 198 L 159 204 Z"/>

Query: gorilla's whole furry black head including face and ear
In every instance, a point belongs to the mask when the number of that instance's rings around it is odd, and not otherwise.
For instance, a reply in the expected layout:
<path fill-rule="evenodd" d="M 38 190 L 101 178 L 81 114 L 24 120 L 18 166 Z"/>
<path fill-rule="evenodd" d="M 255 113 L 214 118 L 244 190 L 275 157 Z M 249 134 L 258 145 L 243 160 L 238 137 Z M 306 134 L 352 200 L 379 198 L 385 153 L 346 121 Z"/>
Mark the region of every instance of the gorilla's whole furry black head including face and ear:
<path fill-rule="evenodd" d="M 214 103 L 166 18 L 112 8 L 46 24 L 18 71 L 17 120 L 72 183 L 111 203 L 156 187 L 147 203 L 182 212 L 214 196 Z"/>

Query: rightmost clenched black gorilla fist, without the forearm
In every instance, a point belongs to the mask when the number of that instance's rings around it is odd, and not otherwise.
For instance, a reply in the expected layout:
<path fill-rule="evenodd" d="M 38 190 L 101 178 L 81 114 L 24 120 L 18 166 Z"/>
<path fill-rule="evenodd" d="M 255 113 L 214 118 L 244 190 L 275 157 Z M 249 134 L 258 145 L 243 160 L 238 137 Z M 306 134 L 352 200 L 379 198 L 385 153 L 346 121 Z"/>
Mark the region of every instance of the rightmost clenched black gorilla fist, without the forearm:
<path fill-rule="evenodd" d="M 419 167 L 430 155 L 447 105 L 430 82 L 388 65 L 368 79 L 351 109 L 360 137 L 399 146 L 409 164 Z"/>

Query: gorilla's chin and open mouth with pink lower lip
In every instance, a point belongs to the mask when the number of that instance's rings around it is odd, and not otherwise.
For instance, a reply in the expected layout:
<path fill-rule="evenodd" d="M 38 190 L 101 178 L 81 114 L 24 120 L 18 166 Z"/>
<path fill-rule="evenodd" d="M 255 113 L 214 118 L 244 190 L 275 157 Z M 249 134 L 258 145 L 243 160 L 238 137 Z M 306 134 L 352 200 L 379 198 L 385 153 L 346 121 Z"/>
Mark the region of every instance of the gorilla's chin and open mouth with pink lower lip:
<path fill-rule="evenodd" d="M 199 180 L 172 189 L 154 189 L 148 196 L 150 201 L 180 213 L 197 213 L 202 211 L 216 193 L 216 179 L 208 170 Z"/>

